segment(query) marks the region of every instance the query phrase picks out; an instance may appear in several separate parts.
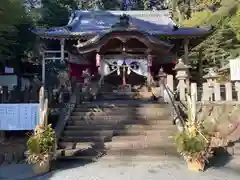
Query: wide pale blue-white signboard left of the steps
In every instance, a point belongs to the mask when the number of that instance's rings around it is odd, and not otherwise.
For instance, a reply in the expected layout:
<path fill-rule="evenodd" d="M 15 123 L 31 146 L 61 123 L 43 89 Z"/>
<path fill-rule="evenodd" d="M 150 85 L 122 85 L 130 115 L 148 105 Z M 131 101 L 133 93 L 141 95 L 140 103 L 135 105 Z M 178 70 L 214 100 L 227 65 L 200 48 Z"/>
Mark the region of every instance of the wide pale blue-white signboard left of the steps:
<path fill-rule="evenodd" d="M 0 130 L 33 130 L 39 124 L 39 104 L 0 104 Z"/>

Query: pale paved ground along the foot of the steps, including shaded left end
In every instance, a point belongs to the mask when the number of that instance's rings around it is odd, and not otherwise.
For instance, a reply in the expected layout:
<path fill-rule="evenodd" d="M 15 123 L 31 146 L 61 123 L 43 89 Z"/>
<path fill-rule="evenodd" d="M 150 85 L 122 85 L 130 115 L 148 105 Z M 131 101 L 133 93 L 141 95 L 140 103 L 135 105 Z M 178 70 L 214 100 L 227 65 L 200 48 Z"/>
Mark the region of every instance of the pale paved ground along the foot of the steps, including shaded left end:
<path fill-rule="evenodd" d="M 240 158 L 223 160 L 205 172 L 191 172 L 177 157 L 103 157 L 95 163 L 58 161 L 52 172 L 33 177 L 31 165 L 0 166 L 0 180 L 237 180 Z M 225 164 L 223 162 L 225 161 Z"/>

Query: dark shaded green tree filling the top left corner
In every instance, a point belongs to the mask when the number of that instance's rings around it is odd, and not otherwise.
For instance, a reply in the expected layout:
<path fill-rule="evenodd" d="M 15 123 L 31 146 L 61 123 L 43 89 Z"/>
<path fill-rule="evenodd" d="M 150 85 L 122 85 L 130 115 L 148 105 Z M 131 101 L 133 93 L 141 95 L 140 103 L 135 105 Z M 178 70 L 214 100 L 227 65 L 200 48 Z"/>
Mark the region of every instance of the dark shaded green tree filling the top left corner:
<path fill-rule="evenodd" d="M 20 0 L 0 1 L 0 58 L 10 60 L 19 57 L 29 46 L 24 44 L 23 35 L 31 25 L 23 3 Z M 26 41 L 25 41 L 26 42 Z M 21 46 L 20 46 L 21 44 Z"/>

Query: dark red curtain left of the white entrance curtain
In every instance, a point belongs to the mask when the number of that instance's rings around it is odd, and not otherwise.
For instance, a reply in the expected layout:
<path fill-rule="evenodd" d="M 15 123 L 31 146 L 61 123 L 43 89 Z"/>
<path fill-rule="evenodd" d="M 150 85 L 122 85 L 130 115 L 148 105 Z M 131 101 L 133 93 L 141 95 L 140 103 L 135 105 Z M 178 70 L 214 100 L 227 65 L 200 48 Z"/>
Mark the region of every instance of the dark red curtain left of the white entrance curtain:
<path fill-rule="evenodd" d="M 83 82 L 83 78 L 81 77 L 83 70 L 88 68 L 91 74 L 95 74 L 97 72 L 97 67 L 95 64 L 85 65 L 69 63 L 68 65 L 70 70 L 70 79 L 75 77 L 79 82 Z"/>

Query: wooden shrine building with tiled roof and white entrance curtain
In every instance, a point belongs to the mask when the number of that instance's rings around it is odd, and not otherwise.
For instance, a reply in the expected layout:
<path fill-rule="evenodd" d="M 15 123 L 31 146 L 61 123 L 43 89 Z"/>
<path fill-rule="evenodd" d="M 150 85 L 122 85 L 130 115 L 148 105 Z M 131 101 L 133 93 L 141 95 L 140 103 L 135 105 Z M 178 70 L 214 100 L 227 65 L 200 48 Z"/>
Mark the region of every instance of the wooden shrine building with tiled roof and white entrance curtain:
<path fill-rule="evenodd" d="M 173 73 L 175 62 L 211 32 L 211 28 L 179 27 L 168 10 L 74 11 L 67 25 L 32 30 L 41 39 L 59 41 L 59 54 L 70 78 L 98 73 L 104 82 L 138 84 L 154 79 L 160 67 Z"/>

